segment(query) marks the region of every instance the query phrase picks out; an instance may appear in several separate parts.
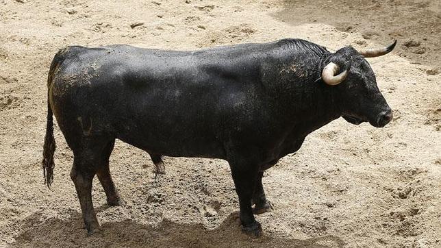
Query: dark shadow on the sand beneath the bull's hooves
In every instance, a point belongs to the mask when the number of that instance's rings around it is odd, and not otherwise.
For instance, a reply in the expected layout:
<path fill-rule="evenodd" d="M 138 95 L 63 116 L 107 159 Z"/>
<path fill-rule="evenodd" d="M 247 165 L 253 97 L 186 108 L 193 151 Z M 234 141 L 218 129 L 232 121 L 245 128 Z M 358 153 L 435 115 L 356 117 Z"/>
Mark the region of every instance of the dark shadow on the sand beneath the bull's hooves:
<path fill-rule="evenodd" d="M 97 212 L 105 207 L 97 208 Z M 102 234 L 86 236 L 81 214 L 70 210 L 64 218 L 45 219 L 40 213 L 28 216 L 12 247 L 343 247 L 335 236 L 306 240 L 275 238 L 265 234 L 257 239 L 240 232 L 238 212 L 230 214 L 214 230 L 201 223 L 163 220 L 152 226 L 127 219 L 103 223 Z"/>

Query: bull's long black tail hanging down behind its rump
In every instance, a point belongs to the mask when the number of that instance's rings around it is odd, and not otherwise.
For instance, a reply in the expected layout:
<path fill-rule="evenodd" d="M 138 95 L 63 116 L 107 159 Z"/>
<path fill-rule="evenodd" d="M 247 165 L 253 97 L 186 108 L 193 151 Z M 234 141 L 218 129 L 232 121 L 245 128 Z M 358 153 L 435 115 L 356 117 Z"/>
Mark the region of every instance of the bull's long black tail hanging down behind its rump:
<path fill-rule="evenodd" d="M 45 184 L 48 188 L 51 187 L 53 182 L 53 168 L 55 163 L 53 162 L 53 153 L 55 152 L 55 138 L 53 138 L 53 112 L 51 108 L 51 102 L 49 101 L 50 89 L 52 86 L 53 76 L 57 71 L 60 62 L 62 62 L 62 51 L 59 51 L 52 60 L 51 69 L 49 69 L 49 75 L 47 77 L 47 123 L 46 123 L 46 135 L 45 145 L 43 145 L 43 160 L 41 162 L 43 167 L 43 177 L 45 177 Z"/>

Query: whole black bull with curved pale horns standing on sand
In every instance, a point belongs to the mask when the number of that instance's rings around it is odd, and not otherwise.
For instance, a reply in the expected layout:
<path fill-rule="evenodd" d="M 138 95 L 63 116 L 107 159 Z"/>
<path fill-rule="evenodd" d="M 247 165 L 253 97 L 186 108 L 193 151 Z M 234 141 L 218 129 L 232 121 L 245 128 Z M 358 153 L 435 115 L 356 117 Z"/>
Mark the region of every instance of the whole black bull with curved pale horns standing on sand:
<path fill-rule="evenodd" d="M 392 119 L 363 57 L 386 54 L 394 45 L 336 53 L 294 39 L 199 51 L 62 49 L 49 71 L 45 181 L 53 181 L 53 114 L 73 150 L 71 178 L 89 233 L 100 228 L 91 196 L 95 175 L 108 203 L 123 203 L 109 171 L 118 138 L 147 151 L 157 165 L 161 156 L 227 160 L 242 230 L 258 236 L 252 206 L 256 214 L 270 208 L 265 169 L 340 116 L 375 127 Z"/>

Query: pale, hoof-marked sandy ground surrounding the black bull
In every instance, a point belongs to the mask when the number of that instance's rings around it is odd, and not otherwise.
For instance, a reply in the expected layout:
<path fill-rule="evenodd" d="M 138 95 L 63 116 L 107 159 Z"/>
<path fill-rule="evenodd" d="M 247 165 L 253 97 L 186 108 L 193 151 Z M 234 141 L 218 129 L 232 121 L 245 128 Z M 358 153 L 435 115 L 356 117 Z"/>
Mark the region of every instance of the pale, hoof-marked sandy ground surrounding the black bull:
<path fill-rule="evenodd" d="M 133 24 L 140 24 L 132 28 Z M 223 160 L 166 158 L 153 179 L 143 151 L 117 142 L 103 236 L 87 237 L 55 127 L 55 182 L 40 168 L 47 72 L 66 45 L 198 49 L 304 38 L 329 49 L 386 45 L 369 59 L 394 120 L 382 129 L 333 121 L 268 170 L 264 233 L 240 233 Z M 0 1 L 0 247 L 441 247 L 441 1 Z M 144 169 L 147 166 L 148 169 Z"/>

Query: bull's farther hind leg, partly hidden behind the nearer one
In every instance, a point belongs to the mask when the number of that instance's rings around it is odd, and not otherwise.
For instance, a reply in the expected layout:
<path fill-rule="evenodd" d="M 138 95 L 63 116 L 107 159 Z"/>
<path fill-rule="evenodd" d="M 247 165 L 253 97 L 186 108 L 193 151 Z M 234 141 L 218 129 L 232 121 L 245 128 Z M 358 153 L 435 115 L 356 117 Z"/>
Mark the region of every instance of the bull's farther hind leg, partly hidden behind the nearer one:
<path fill-rule="evenodd" d="M 105 196 L 107 197 L 107 201 L 109 206 L 123 206 L 125 201 L 119 195 L 118 190 L 115 187 L 112 176 L 110 175 L 109 168 L 109 158 L 112 153 L 113 147 L 115 145 L 115 140 L 112 140 L 104 147 L 102 153 L 103 163 L 99 166 L 97 170 L 97 177 L 99 182 L 101 182 L 101 186 L 103 186 Z"/>

